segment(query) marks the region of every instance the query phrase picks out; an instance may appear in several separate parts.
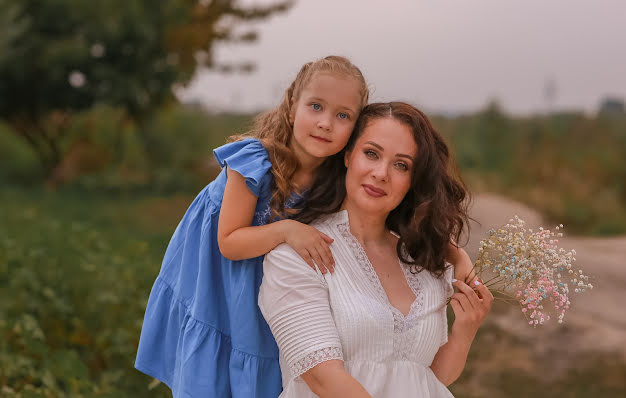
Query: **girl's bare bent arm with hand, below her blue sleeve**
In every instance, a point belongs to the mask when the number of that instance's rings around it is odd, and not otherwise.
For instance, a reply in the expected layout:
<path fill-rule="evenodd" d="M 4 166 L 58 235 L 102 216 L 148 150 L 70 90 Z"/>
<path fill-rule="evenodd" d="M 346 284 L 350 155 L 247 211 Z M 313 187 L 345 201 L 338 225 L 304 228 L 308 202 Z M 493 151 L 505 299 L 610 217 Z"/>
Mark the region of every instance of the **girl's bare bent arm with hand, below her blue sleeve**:
<path fill-rule="evenodd" d="M 332 272 L 334 261 L 329 245 L 332 239 L 314 227 L 294 220 L 281 220 L 251 226 L 257 197 L 238 172 L 227 169 L 228 179 L 220 209 L 217 243 L 230 260 L 262 256 L 281 243 L 289 244 L 309 264 Z"/>

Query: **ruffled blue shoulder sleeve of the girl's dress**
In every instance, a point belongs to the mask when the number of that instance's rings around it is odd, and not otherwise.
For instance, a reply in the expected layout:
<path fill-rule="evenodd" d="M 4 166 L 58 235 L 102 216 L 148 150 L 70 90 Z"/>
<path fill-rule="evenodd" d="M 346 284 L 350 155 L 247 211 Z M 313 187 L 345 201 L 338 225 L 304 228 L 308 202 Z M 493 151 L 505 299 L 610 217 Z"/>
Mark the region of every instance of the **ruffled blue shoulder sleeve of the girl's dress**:
<path fill-rule="evenodd" d="M 263 177 L 270 171 L 267 150 L 256 138 L 231 142 L 213 150 L 220 167 L 230 168 L 246 179 L 248 189 L 259 196 Z"/>

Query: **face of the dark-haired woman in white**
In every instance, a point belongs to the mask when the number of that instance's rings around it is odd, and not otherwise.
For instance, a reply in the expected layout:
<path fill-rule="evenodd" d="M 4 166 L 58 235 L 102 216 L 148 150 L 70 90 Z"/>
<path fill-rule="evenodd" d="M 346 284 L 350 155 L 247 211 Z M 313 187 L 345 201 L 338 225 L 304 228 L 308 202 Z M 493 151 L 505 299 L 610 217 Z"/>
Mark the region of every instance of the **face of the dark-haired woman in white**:
<path fill-rule="evenodd" d="M 417 144 L 408 126 L 387 117 L 371 121 L 346 153 L 346 203 L 388 214 L 411 186 Z"/>

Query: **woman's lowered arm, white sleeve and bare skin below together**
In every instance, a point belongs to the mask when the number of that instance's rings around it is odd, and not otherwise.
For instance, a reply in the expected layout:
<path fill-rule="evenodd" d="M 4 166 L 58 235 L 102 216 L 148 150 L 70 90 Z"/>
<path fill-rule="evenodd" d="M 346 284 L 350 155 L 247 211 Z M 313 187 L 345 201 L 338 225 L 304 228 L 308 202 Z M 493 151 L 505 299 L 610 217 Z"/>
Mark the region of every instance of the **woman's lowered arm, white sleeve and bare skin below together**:
<path fill-rule="evenodd" d="M 326 279 L 286 245 L 265 256 L 259 308 L 292 377 L 320 397 L 370 397 L 343 367 Z"/>

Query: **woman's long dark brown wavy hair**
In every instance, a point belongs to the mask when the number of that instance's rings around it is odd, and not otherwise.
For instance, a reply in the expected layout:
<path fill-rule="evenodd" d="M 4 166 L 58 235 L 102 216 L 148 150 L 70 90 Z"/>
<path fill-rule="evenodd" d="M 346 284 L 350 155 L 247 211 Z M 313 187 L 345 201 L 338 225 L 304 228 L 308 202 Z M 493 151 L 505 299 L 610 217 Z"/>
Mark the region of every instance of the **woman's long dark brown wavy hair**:
<path fill-rule="evenodd" d="M 344 156 L 367 126 L 376 119 L 392 118 L 408 126 L 417 144 L 411 170 L 411 187 L 402 202 L 389 213 L 386 227 L 400 239 L 398 257 L 411 272 L 423 269 L 436 276 L 446 270 L 449 243 L 458 242 L 468 224 L 469 192 L 458 175 L 448 146 L 419 109 L 402 102 L 367 105 L 359 115 L 346 148 L 327 159 L 299 213 L 292 218 L 304 223 L 339 211 L 346 197 Z"/>

